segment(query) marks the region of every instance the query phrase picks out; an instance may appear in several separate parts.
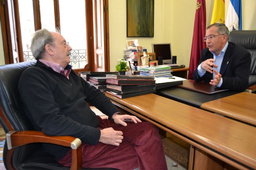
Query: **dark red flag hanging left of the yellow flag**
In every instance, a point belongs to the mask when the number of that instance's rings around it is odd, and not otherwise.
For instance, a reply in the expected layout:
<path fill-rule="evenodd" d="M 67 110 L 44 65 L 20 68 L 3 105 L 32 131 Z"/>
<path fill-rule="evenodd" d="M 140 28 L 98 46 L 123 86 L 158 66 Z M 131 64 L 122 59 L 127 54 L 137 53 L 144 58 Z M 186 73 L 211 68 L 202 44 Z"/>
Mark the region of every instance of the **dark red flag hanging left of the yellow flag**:
<path fill-rule="evenodd" d="M 194 34 L 190 55 L 190 64 L 188 69 L 188 79 L 193 78 L 193 72 L 199 63 L 201 50 L 205 48 L 204 36 L 206 29 L 206 8 L 205 0 L 197 0 L 196 16 L 194 23 Z"/>

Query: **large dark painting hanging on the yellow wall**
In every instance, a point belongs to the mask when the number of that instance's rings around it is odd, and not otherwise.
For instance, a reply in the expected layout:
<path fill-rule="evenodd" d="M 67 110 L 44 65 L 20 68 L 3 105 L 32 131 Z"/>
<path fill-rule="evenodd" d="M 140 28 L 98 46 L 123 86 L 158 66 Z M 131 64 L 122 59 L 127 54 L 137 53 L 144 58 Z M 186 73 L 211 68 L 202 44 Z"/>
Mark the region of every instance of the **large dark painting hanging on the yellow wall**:
<path fill-rule="evenodd" d="M 154 37 L 154 0 L 126 0 L 127 37 Z"/>

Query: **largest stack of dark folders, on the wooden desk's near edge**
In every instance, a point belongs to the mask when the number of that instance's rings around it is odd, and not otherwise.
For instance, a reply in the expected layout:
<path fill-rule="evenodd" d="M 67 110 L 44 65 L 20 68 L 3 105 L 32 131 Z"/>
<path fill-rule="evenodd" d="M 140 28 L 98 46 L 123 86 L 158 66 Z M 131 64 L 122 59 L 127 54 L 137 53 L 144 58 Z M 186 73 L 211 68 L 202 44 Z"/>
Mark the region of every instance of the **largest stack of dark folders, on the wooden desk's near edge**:
<path fill-rule="evenodd" d="M 156 92 L 153 76 L 106 75 L 106 92 L 120 99 Z"/>

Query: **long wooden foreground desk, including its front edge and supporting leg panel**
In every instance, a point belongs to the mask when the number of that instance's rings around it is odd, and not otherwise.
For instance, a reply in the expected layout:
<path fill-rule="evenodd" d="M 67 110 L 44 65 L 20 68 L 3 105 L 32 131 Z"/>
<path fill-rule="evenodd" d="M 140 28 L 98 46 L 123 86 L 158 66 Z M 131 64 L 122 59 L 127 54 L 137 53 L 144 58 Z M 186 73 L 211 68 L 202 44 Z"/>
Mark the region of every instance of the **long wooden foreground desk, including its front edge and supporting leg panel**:
<path fill-rule="evenodd" d="M 122 100 L 110 94 L 106 96 L 122 110 L 190 143 L 189 169 L 210 167 L 210 159 L 200 162 L 208 157 L 206 155 L 236 168 L 256 169 L 256 127 L 156 94 Z"/>

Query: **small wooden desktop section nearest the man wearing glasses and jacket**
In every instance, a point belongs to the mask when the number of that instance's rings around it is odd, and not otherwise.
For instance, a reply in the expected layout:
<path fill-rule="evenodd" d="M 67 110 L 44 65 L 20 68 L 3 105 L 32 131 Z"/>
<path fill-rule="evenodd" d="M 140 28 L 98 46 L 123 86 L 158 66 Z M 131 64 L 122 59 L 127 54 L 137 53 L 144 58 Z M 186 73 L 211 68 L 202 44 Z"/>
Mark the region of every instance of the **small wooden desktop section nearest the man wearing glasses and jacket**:
<path fill-rule="evenodd" d="M 256 125 L 256 94 L 242 92 L 203 103 L 201 108 Z"/>

